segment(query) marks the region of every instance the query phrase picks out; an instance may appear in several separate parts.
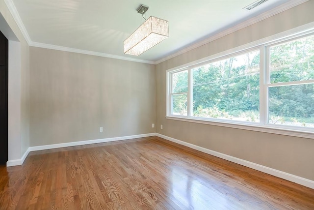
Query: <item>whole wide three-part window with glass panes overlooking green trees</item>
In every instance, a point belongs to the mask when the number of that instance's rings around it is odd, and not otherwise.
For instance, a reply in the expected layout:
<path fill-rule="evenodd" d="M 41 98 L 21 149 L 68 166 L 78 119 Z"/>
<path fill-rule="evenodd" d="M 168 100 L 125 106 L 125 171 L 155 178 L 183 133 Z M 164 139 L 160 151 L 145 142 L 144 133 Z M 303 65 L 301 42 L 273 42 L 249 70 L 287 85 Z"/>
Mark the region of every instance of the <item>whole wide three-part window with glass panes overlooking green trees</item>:
<path fill-rule="evenodd" d="M 167 117 L 313 133 L 313 31 L 168 70 Z"/>

